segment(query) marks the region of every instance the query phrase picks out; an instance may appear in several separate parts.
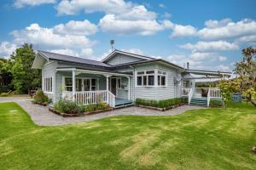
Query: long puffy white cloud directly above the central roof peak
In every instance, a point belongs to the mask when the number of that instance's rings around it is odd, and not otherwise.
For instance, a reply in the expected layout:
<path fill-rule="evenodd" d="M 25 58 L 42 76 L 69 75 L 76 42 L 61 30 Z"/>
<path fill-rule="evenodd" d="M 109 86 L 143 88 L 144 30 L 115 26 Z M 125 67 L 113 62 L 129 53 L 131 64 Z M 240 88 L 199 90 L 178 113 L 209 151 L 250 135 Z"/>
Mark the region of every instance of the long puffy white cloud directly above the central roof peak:
<path fill-rule="evenodd" d="M 162 31 L 165 26 L 156 20 L 119 20 L 114 14 L 106 14 L 99 23 L 102 31 L 108 31 L 119 35 L 139 34 L 152 35 Z"/>

